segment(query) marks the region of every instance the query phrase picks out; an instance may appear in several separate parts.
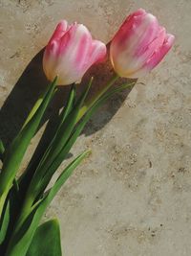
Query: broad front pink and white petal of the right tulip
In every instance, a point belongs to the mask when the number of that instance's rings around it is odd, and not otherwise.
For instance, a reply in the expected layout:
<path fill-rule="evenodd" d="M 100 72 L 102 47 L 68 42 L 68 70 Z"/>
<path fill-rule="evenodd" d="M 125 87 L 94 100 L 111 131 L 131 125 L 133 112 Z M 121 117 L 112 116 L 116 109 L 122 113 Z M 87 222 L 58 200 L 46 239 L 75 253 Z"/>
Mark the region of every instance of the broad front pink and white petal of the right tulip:
<path fill-rule="evenodd" d="M 159 23 L 157 18 L 152 14 L 141 13 L 138 16 L 132 15 L 129 19 L 127 18 L 130 24 L 127 22 L 126 27 L 124 24 L 123 29 L 119 30 L 122 37 L 116 37 L 116 40 L 114 39 L 111 44 L 112 57 L 117 59 L 117 66 L 123 67 L 125 70 L 138 70 L 143 65 L 145 59 L 142 58 L 141 52 L 158 35 Z M 124 36 L 126 37 L 124 38 Z M 121 72 L 123 73 L 123 71 Z"/>

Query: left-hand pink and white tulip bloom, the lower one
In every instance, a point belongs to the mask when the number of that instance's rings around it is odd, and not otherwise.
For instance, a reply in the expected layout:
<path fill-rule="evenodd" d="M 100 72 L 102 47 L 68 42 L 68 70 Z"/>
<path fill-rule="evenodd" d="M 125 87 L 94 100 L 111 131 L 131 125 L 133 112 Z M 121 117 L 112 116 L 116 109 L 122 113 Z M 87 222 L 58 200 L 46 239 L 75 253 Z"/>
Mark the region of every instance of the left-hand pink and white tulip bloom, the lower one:
<path fill-rule="evenodd" d="M 81 81 L 85 72 L 106 56 L 106 46 L 94 40 L 82 24 L 61 21 L 50 39 L 43 57 L 43 69 L 50 81 L 66 85 Z"/>

